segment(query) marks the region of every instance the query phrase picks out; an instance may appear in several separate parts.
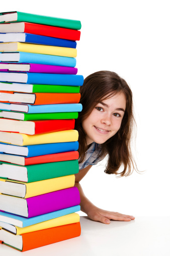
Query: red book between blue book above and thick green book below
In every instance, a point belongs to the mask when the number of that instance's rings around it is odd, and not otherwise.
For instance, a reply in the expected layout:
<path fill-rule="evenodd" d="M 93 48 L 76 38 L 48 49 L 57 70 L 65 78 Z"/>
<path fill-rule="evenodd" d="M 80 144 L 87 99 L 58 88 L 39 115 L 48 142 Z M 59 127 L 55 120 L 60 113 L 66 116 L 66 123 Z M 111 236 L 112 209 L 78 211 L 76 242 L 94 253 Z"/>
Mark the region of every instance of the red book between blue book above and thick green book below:
<path fill-rule="evenodd" d="M 0 154 L 0 161 L 16 164 L 16 165 L 38 165 L 53 162 L 62 162 L 78 159 L 78 151 L 69 151 L 62 153 L 55 153 L 51 155 L 44 155 L 32 158 L 25 158 L 15 155 Z"/>

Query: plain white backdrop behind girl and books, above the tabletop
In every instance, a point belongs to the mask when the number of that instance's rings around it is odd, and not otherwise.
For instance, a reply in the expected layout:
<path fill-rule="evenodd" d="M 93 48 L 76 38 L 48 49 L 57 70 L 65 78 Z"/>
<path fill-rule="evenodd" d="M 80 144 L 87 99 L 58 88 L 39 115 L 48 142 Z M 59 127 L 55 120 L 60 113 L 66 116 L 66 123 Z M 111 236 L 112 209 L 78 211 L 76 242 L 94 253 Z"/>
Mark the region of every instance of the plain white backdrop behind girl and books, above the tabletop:
<path fill-rule="evenodd" d="M 1 12 L 20 11 L 80 20 L 78 74 L 117 72 L 133 91 L 137 122 L 134 172 L 117 179 L 102 166 L 81 182 L 98 207 L 134 216 L 169 215 L 168 1 L 3 1 Z"/>

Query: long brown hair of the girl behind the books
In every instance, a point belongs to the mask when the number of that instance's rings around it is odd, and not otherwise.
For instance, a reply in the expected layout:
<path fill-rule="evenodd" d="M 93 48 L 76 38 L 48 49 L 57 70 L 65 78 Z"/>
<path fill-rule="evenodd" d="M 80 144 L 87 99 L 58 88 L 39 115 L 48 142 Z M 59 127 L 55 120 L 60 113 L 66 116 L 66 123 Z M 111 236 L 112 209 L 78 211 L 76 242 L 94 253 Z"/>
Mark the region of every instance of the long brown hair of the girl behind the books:
<path fill-rule="evenodd" d="M 117 93 L 124 93 L 126 97 L 126 110 L 121 127 L 113 137 L 101 144 L 102 150 L 100 157 L 107 154 L 109 157 L 105 173 L 115 174 L 119 177 L 130 175 L 134 169 L 137 170 L 137 167 L 133 160 L 130 145 L 135 120 L 133 116 L 132 91 L 128 84 L 115 72 L 99 71 L 84 79 L 83 86 L 80 87 L 80 93 L 82 112 L 79 113 L 78 119 L 75 121 L 75 129 L 79 133 L 79 163 L 86 157 L 86 151 L 88 149 L 86 133 L 82 128 L 82 121 L 91 114 L 101 100 Z M 122 172 L 119 172 L 119 168 L 122 165 L 124 169 Z"/>

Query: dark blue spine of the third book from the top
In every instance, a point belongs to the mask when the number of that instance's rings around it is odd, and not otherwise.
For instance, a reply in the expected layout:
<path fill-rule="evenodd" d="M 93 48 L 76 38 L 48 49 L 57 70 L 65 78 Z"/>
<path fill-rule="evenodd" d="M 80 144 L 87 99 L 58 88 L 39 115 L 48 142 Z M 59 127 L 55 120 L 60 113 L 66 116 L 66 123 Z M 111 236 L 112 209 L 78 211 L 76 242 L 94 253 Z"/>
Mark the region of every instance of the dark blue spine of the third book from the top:
<path fill-rule="evenodd" d="M 25 33 L 25 42 L 36 43 L 36 44 L 45 44 L 52 46 L 76 48 L 76 42 L 71 40 L 65 40 L 55 37 L 43 36 L 43 35 L 34 35 Z"/>

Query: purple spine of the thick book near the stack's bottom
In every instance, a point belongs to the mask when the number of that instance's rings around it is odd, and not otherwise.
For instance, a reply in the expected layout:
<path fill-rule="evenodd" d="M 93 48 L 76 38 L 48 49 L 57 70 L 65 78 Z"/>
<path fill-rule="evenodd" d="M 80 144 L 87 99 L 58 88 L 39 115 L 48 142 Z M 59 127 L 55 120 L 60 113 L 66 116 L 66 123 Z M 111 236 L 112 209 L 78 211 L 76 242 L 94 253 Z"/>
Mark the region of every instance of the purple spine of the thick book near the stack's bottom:
<path fill-rule="evenodd" d="M 77 187 L 66 188 L 27 199 L 28 218 L 77 206 L 80 196 Z M 55 202 L 55 203 L 54 203 Z"/>

